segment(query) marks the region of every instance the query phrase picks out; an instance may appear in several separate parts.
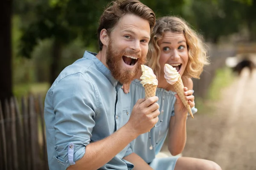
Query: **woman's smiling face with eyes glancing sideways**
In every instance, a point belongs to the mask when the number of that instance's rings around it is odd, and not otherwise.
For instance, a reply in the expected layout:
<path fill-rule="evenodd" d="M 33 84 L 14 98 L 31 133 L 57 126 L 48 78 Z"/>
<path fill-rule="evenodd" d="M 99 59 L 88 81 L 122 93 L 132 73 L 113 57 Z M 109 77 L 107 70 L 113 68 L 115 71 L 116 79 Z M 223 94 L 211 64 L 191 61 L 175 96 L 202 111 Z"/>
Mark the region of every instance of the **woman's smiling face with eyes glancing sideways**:
<path fill-rule="evenodd" d="M 160 66 L 161 76 L 164 75 L 163 68 L 165 64 L 172 65 L 180 76 L 183 75 L 189 60 L 186 39 L 182 33 L 165 32 L 163 37 L 158 40 L 160 47 Z"/>

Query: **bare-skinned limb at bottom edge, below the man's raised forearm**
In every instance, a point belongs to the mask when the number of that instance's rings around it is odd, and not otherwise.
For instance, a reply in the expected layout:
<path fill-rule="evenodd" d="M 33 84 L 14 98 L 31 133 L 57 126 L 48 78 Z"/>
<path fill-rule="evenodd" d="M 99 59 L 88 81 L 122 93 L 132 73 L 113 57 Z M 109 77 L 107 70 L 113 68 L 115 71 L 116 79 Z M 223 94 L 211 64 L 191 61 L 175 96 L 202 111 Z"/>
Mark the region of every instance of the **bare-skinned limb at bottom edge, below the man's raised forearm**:
<path fill-rule="evenodd" d="M 153 170 L 140 156 L 136 153 L 124 157 L 125 160 L 134 164 L 133 170 Z"/>

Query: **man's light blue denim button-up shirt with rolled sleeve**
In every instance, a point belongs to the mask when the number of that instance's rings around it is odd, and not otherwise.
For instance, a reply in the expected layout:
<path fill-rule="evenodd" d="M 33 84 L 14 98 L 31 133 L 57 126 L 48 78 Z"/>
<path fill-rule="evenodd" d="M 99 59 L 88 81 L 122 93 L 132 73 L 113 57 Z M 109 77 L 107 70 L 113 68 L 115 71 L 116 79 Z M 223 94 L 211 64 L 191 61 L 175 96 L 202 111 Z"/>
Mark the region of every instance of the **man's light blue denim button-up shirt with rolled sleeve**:
<path fill-rule="evenodd" d="M 50 170 L 66 170 L 84 156 L 87 144 L 128 122 L 131 102 L 122 102 L 126 96 L 117 95 L 122 84 L 95 55 L 85 51 L 47 92 L 44 119 Z M 122 159 L 131 153 L 128 145 L 100 169 L 132 169 L 133 164 Z"/>

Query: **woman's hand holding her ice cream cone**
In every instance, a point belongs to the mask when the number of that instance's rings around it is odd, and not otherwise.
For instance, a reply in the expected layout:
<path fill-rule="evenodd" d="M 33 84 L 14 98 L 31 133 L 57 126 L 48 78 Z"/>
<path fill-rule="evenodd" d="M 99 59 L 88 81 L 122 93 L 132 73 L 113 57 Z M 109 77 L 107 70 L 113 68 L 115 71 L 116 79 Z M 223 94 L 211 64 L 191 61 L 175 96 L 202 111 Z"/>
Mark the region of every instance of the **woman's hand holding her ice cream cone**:
<path fill-rule="evenodd" d="M 193 96 L 193 91 L 188 90 L 188 88 L 184 87 L 184 94 L 186 95 L 186 99 L 188 100 L 190 107 L 193 108 L 195 106 L 195 101 L 194 101 L 195 96 Z M 185 108 L 185 106 L 181 102 L 180 97 L 177 94 L 175 94 L 175 97 L 176 97 L 176 102 L 174 105 L 174 111 L 176 115 L 180 115 L 180 114 L 187 115 L 188 110 Z"/>

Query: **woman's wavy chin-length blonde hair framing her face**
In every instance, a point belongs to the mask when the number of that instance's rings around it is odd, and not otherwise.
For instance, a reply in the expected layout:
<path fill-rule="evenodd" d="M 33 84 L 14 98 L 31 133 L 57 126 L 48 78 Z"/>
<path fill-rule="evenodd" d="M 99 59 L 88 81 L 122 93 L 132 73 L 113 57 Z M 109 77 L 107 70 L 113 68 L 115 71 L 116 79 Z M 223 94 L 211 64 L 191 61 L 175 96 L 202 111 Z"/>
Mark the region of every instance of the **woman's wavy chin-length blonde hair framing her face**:
<path fill-rule="evenodd" d="M 148 45 L 148 66 L 152 68 L 157 77 L 160 76 L 161 68 L 159 59 L 161 50 L 157 42 L 167 31 L 184 34 L 188 46 L 189 60 L 183 76 L 199 79 L 204 65 L 209 64 L 207 50 L 205 49 L 201 36 L 192 30 L 185 20 L 179 17 L 161 17 L 156 20 L 156 25 L 153 28 L 151 40 Z"/>

